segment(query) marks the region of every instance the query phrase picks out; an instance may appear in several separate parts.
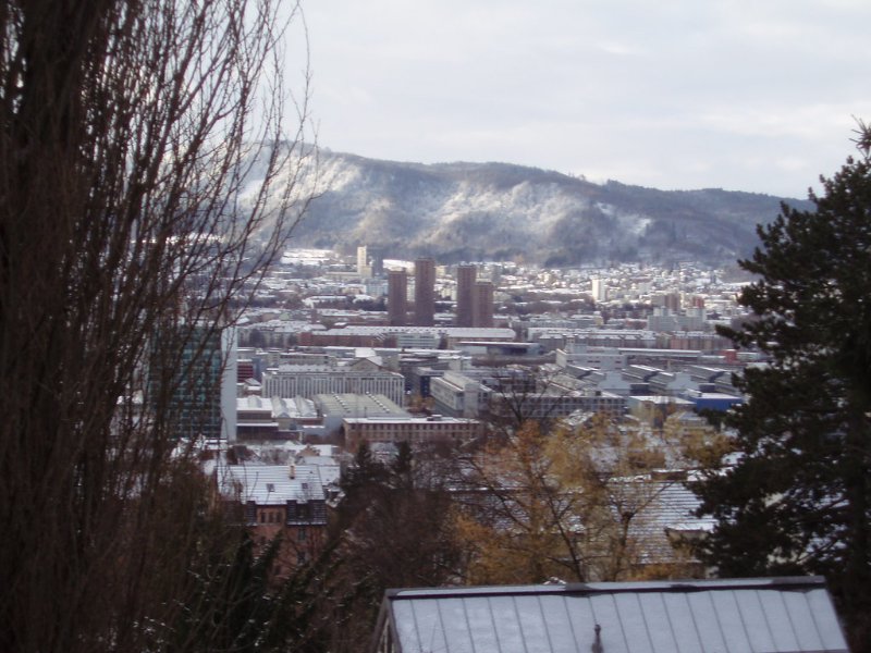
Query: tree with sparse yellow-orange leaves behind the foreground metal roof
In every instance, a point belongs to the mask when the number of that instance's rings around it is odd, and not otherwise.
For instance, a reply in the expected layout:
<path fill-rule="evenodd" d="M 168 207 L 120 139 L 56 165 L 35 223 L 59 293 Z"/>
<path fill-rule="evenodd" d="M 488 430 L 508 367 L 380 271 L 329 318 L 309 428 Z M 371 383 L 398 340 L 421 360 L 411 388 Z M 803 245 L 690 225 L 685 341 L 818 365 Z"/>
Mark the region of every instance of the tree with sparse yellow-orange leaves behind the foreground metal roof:
<path fill-rule="evenodd" d="M 663 527 L 686 494 L 679 475 L 663 471 L 675 455 L 675 447 L 636 421 L 596 416 L 549 432 L 525 422 L 512 438 L 466 460 L 456 516 L 466 543 L 466 580 L 589 582 L 696 574 L 688 553 L 673 546 Z"/>

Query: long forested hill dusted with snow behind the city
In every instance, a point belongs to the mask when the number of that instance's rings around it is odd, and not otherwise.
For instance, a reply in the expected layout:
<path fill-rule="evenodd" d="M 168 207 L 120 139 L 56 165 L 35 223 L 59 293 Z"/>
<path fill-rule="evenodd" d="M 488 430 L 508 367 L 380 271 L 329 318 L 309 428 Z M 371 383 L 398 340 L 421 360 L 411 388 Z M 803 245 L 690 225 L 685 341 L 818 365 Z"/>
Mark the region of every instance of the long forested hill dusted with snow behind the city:
<path fill-rule="evenodd" d="M 401 163 L 321 151 L 326 192 L 294 234 L 303 246 L 382 247 L 442 262 L 523 259 L 732 262 L 782 198 L 594 184 L 505 163 Z M 805 207 L 807 200 L 787 200 Z"/>

